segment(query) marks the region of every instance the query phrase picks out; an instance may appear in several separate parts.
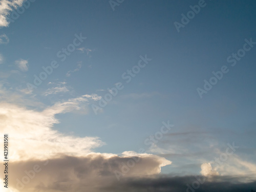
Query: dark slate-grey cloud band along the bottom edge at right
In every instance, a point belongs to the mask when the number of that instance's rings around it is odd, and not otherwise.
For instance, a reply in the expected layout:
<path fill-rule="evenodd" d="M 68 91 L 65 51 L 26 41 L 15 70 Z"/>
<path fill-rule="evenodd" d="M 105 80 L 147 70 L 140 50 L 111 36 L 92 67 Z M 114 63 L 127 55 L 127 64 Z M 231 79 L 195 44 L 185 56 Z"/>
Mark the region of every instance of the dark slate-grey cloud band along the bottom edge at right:
<path fill-rule="evenodd" d="M 196 176 L 202 178 L 202 176 Z M 108 188 L 100 188 L 99 191 L 124 191 L 124 192 L 169 192 L 169 191 L 198 191 L 198 192 L 213 192 L 213 191 L 250 191 L 251 188 L 256 188 L 256 182 L 236 183 L 237 178 L 218 177 L 214 180 L 205 181 L 199 185 L 199 188 L 193 188 L 193 183 L 197 181 L 194 176 L 187 177 L 171 177 L 171 176 L 156 176 L 155 178 L 130 178 L 125 179 L 121 183 Z M 190 186 L 190 187 L 188 187 Z M 195 185 L 196 186 L 196 185 Z"/>

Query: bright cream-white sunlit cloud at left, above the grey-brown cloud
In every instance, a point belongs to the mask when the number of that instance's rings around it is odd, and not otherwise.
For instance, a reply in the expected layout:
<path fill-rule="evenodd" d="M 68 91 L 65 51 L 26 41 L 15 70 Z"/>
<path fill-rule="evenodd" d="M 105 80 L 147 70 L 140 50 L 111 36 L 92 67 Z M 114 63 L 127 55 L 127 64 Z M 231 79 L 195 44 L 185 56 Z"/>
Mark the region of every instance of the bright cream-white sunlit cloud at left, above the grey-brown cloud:
<path fill-rule="evenodd" d="M 59 123 L 54 117 L 58 113 L 65 113 L 78 108 L 79 98 L 63 103 L 57 103 L 42 112 L 27 110 L 17 105 L 0 103 L 0 132 L 8 133 L 12 140 L 10 159 L 22 161 L 28 159 L 44 160 L 46 154 L 53 149 L 58 153 L 82 156 L 88 154 L 92 148 L 99 147 L 104 143 L 97 137 L 75 137 L 64 135 L 52 130 L 54 123 Z M 14 147 L 16 146 L 16 147 Z M 27 148 L 29 147 L 29 150 Z"/>

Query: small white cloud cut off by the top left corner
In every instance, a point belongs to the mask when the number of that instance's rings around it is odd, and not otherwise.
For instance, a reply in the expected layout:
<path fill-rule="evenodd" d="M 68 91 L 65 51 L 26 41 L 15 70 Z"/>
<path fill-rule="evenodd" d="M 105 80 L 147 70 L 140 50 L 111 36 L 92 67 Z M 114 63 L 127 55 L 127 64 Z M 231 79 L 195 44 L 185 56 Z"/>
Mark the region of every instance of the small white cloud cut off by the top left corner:
<path fill-rule="evenodd" d="M 8 21 L 8 16 L 12 12 L 13 8 L 22 6 L 23 2 L 26 0 L 2 0 L 0 1 L 0 27 L 8 27 L 10 22 Z"/>

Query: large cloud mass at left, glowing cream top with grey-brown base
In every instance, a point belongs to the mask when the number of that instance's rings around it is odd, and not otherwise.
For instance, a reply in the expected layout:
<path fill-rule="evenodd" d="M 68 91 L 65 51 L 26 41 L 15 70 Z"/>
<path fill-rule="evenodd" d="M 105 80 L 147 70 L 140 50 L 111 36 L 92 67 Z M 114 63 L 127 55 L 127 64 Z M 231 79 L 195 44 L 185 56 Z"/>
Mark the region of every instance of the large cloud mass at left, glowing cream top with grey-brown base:
<path fill-rule="evenodd" d="M 104 144 L 98 137 L 75 137 L 52 129 L 59 123 L 56 114 L 83 110 L 90 100 L 98 99 L 96 94 L 83 95 L 42 111 L 0 103 L 0 132 L 9 134 L 11 148 L 8 191 L 101 191 L 118 183 L 116 172 L 122 172 L 130 160 L 139 161 L 122 175 L 124 180 L 159 174 L 162 166 L 171 163 L 152 154 L 94 153 L 95 147 Z M 4 169 L 3 163 L 0 168 Z"/>

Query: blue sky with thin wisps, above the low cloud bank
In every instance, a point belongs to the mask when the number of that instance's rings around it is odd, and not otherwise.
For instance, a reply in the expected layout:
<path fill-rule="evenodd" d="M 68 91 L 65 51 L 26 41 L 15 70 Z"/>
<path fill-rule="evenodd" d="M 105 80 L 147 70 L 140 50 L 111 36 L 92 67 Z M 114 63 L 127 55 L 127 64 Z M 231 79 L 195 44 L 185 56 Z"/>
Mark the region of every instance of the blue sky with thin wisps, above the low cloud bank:
<path fill-rule="evenodd" d="M 51 119 L 49 129 L 63 137 L 98 138 L 90 153 L 121 157 L 144 148 L 172 162 L 160 166 L 158 174 L 256 173 L 254 1 L 119 0 L 111 6 L 111 1 L 37 0 L 28 8 L 24 3 L 0 1 L 0 96 L 7 111 L 10 105 L 44 114 Z M 182 14 L 189 17 L 190 6 L 198 5 L 203 5 L 199 12 L 183 24 Z M 24 13 L 8 22 L 20 7 Z M 175 22 L 183 27 L 177 29 Z M 86 39 L 74 46 L 77 36 Z M 61 61 L 57 53 L 69 46 L 75 50 Z M 232 54 L 240 55 L 235 66 L 227 60 L 234 59 Z M 123 73 L 135 69 L 142 57 L 148 63 L 137 67 L 140 71 L 127 83 Z M 28 89 L 34 75 L 54 60 L 58 67 L 36 89 Z M 226 73 L 217 79 L 212 72 L 223 66 Z M 217 83 L 205 91 L 204 80 L 212 77 Z M 123 89 L 94 113 L 92 106 L 99 106 L 118 82 Z M 174 126 L 146 145 L 163 121 Z M 12 133 L 7 127 L 2 131 Z M 239 148 L 225 166 L 208 164 L 233 142 Z"/>

